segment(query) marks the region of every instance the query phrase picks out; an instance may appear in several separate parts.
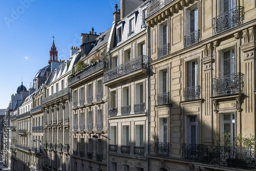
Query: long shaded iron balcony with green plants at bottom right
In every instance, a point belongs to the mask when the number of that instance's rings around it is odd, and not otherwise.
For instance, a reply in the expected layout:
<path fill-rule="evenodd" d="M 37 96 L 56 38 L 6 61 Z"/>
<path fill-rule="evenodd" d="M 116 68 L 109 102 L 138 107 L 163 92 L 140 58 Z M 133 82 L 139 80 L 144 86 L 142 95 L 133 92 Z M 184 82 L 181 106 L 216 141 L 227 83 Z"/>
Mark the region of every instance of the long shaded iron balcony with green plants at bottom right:
<path fill-rule="evenodd" d="M 182 158 L 205 164 L 255 168 L 255 148 L 239 146 L 212 146 L 203 144 L 182 144 Z"/>

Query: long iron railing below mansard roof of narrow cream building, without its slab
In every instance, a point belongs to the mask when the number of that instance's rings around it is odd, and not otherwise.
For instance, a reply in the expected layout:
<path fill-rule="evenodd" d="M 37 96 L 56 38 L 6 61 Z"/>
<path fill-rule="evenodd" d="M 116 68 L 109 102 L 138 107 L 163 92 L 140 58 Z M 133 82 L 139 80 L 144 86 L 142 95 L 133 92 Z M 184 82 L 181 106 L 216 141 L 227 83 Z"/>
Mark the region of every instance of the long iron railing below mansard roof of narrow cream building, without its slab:
<path fill-rule="evenodd" d="M 147 68 L 147 56 L 141 55 L 135 59 L 129 60 L 122 65 L 105 71 L 103 74 L 103 82 L 110 81 L 120 76 L 132 73 L 142 68 Z"/>

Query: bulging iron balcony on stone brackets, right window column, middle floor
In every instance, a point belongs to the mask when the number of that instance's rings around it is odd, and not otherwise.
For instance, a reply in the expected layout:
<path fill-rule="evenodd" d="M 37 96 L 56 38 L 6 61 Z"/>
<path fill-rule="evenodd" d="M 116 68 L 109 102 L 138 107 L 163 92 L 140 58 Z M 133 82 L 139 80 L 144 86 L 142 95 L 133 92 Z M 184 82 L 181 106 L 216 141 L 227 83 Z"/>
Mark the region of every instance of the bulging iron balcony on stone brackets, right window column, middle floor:
<path fill-rule="evenodd" d="M 214 96 L 241 94 L 244 87 L 244 74 L 234 73 L 214 78 Z"/>

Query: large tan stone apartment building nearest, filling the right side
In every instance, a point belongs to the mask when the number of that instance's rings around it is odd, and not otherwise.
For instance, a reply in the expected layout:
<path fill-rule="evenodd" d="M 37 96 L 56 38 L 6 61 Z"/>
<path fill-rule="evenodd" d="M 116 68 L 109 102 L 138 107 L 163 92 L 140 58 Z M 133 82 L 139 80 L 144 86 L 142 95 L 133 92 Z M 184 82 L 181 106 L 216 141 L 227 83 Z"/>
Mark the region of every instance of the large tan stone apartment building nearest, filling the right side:
<path fill-rule="evenodd" d="M 148 4 L 150 170 L 255 167 L 254 148 L 218 143 L 255 135 L 255 10 L 255 1 Z"/>

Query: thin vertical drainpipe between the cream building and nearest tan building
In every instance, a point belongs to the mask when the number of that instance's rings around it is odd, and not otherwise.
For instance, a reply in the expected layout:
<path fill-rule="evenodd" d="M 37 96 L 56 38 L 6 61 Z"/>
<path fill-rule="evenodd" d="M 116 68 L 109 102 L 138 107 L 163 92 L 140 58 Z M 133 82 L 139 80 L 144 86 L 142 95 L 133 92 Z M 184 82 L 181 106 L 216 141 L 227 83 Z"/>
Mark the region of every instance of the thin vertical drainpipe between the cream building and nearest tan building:
<path fill-rule="evenodd" d="M 148 155 L 150 155 L 150 120 L 151 120 L 151 116 L 150 116 L 150 111 L 151 111 L 151 98 L 150 98 L 150 57 L 151 57 L 151 51 L 150 51 L 150 39 L 151 39 L 151 35 L 150 35 L 150 27 L 147 27 L 147 170 L 151 170 L 150 169 L 150 158 L 148 157 Z"/>

